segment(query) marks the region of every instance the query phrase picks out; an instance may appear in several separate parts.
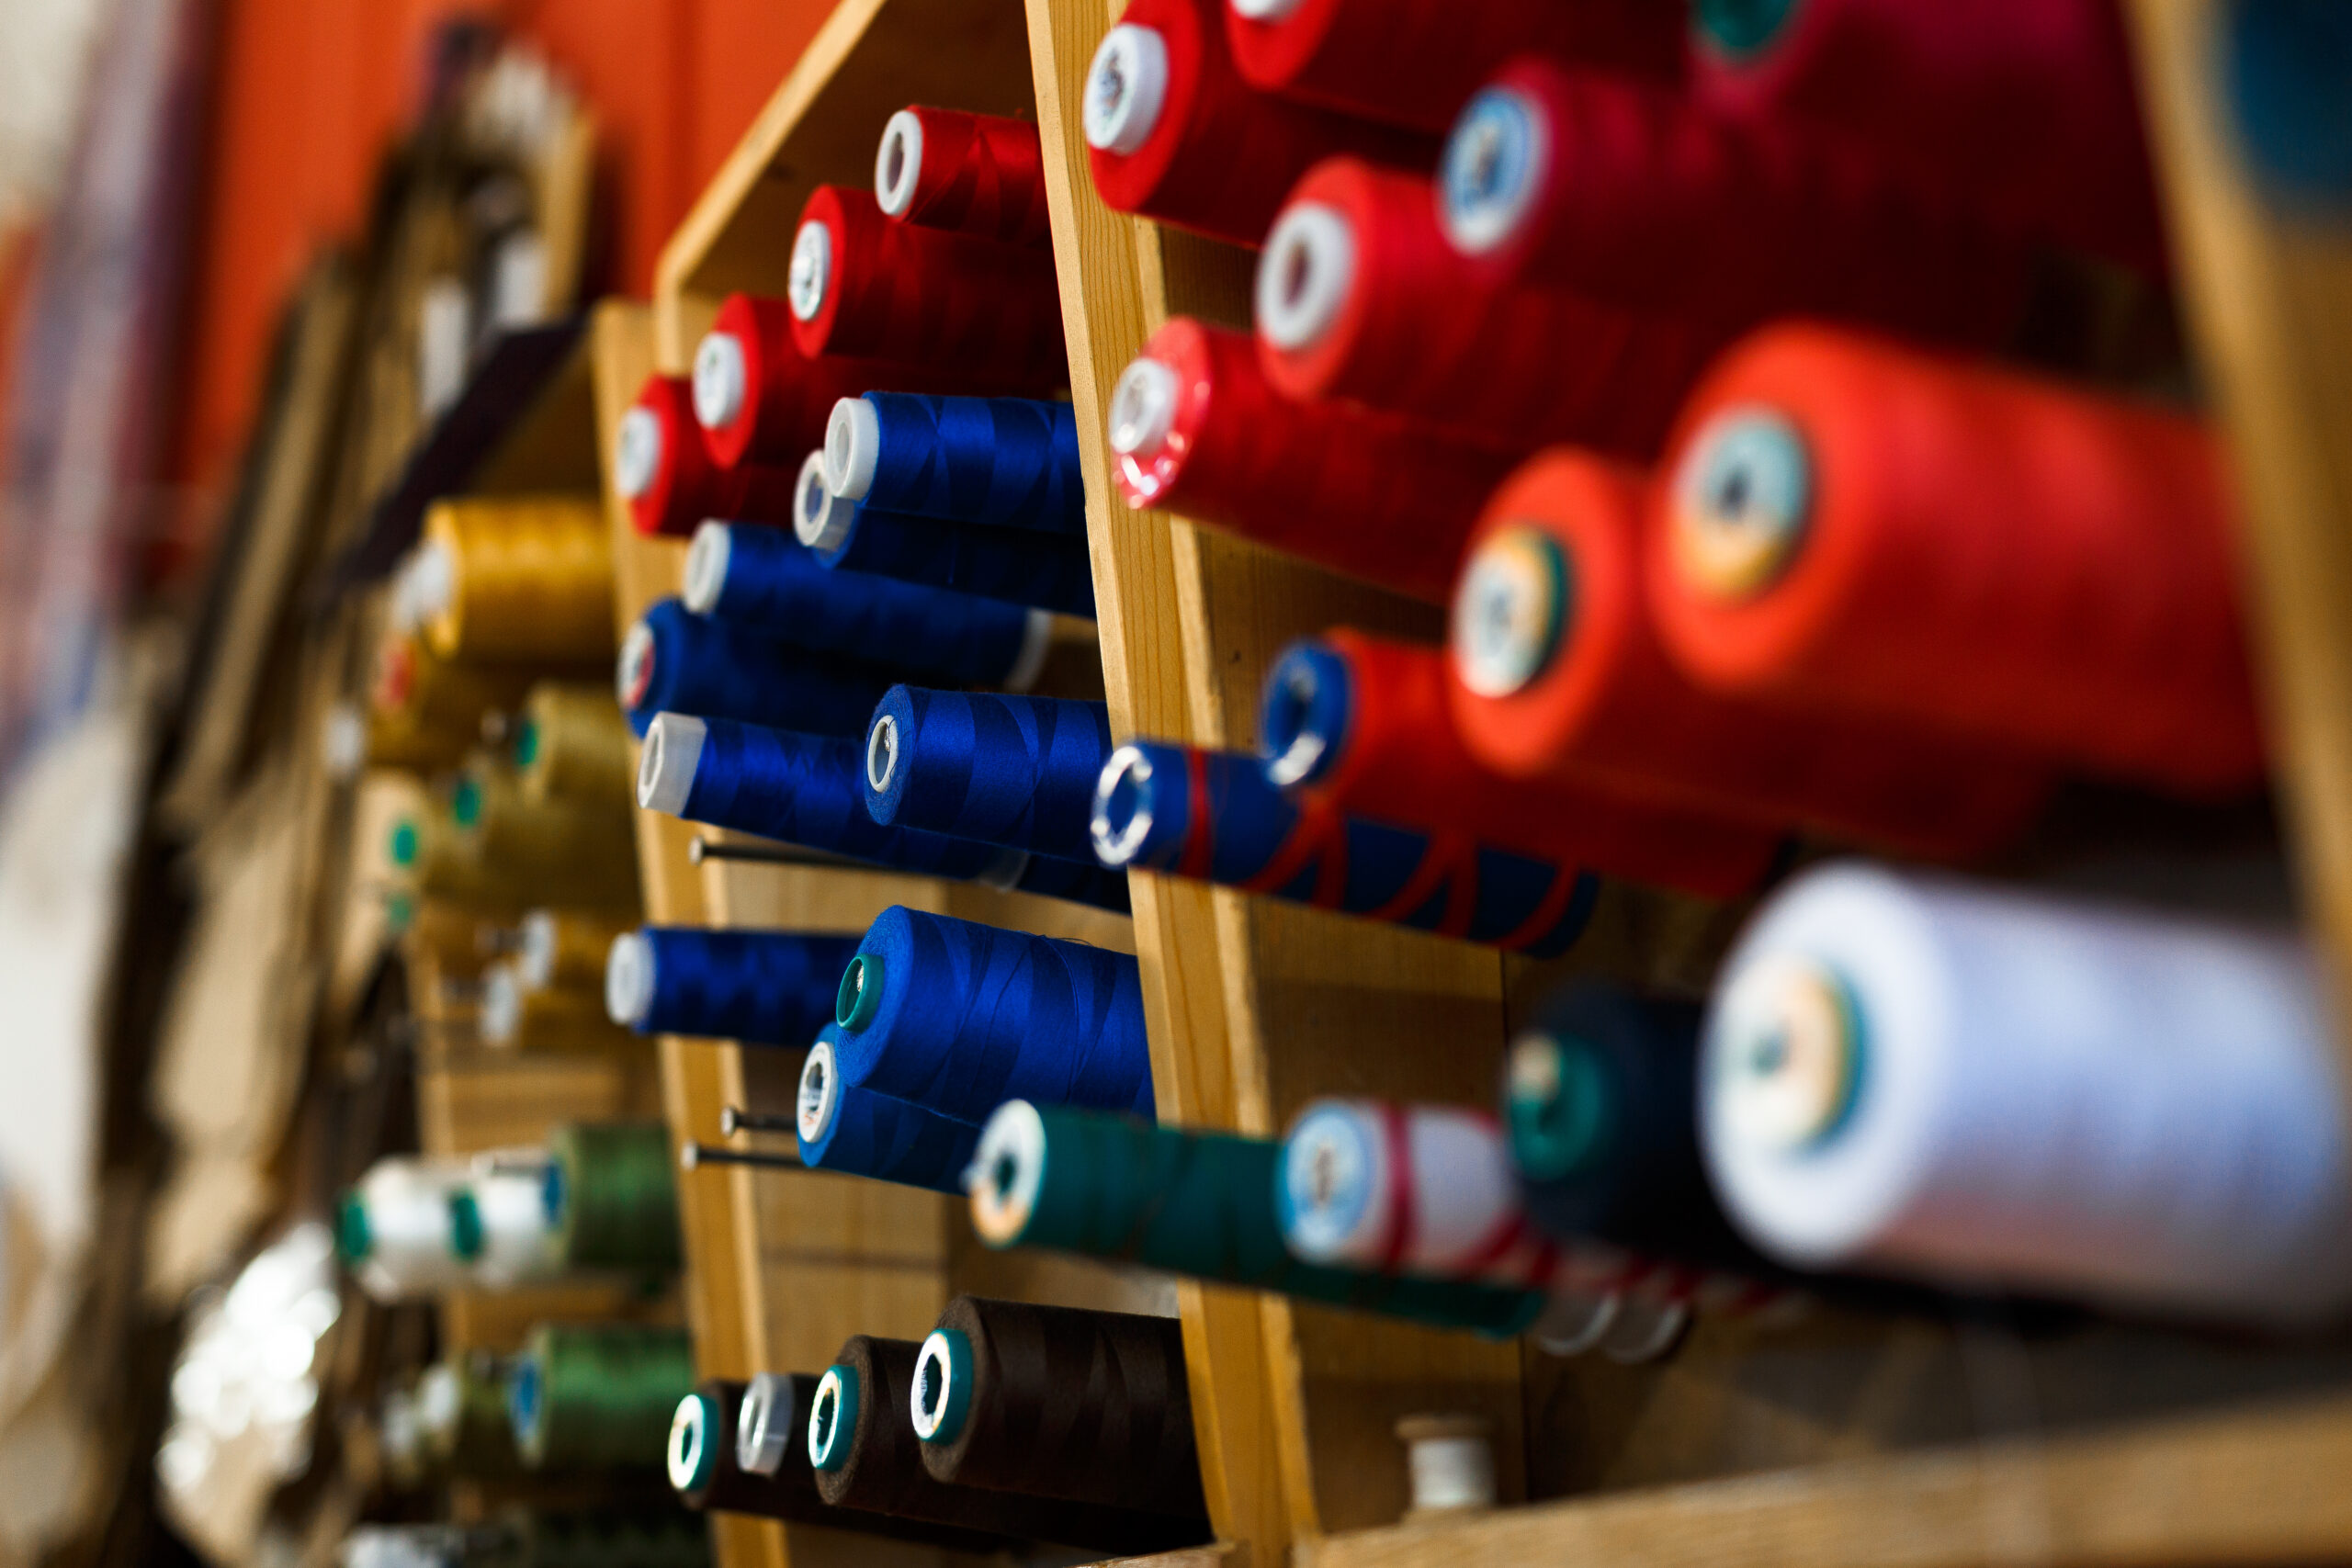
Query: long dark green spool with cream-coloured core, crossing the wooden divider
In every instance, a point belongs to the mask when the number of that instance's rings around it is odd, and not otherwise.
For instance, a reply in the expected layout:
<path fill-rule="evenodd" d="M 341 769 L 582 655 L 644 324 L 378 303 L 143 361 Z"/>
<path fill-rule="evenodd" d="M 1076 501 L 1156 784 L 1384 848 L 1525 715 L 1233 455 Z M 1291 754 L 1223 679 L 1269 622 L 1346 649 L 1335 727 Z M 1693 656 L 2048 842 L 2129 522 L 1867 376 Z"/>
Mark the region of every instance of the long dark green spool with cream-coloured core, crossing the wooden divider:
<path fill-rule="evenodd" d="M 1272 1138 L 1007 1100 L 971 1159 L 971 1229 L 1494 1338 L 1543 1312 L 1536 1291 L 1298 1262 L 1275 1218 L 1279 1166 Z"/>

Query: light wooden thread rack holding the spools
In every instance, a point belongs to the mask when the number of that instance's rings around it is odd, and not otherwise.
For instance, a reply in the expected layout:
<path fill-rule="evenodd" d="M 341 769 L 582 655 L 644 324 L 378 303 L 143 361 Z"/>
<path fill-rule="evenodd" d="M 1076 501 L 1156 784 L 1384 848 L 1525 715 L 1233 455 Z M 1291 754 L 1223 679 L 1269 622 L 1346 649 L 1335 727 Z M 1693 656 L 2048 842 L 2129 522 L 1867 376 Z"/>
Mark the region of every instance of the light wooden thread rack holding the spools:
<path fill-rule="evenodd" d="M 1294 635 L 1359 625 L 1435 637 L 1425 607 L 1355 588 L 1117 501 L 1108 388 L 1169 315 L 1247 324 L 1251 256 L 1112 214 L 1091 190 L 1077 103 L 1108 0 L 844 0 L 661 256 L 652 310 L 595 322 L 607 437 L 642 376 L 684 374 L 731 289 L 781 294 L 818 181 L 863 186 L 906 103 L 1035 115 L 1082 430 L 1117 736 L 1249 745 L 1258 682 Z M 2352 244 L 2288 228 L 2237 190 L 2206 101 L 2211 5 L 2136 0 L 2185 296 L 2241 461 L 2265 639 L 2279 672 L 2288 806 L 2314 919 L 2352 957 L 2352 562 L 2340 484 L 2352 416 L 2340 360 Z M 612 496 L 607 484 L 607 496 Z M 2336 496 L 2338 501 L 2328 501 Z M 623 538 L 621 614 L 675 588 L 677 545 Z M 1319 1093 L 1482 1098 L 1517 1013 L 1569 971 L 1665 978 L 1736 924 L 1625 898 L 1557 964 L 1501 959 L 1312 910 L 1138 875 L 1131 924 L 868 872 L 687 860 L 691 830 L 640 816 L 649 917 L 856 931 L 887 903 L 1134 947 L 1152 1072 L 1171 1121 L 1279 1131 Z M 1077 922 L 1077 929 L 1073 922 Z M 680 1140 L 720 1105 L 783 1105 L 762 1053 L 661 1046 Z M 835 1182 L 835 1185 L 823 1185 Z M 684 1185 L 689 1316 L 706 1373 L 797 1371 L 851 1331 L 920 1333 L 953 1291 L 1073 1305 L 1136 1281 L 978 1255 L 953 1204 L 809 1173 L 706 1171 Z M 1256 1563 L 1423 1568 L 1623 1563 L 2237 1563 L 2352 1556 L 2352 1352 L 2086 1326 L 2025 1345 L 1999 1326 L 1823 1314 L 1797 1331 L 1703 1326 L 1665 1366 L 1552 1361 L 1282 1298 L 1174 1288 L 1218 1549 Z M 920 1321 L 917 1321 L 920 1319 Z M 816 1361 L 811 1361 L 816 1359 Z M 1505 1497 L 1482 1516 L 1397 1523 L 1392 1427 L 1418 1410 L 1494 1422 Z M 2161 1507 L 2150 1507 L 2159 1500 Z M 873 1544 L 727 1521 L 722 1561 L 814 1563 Z M 1178 1561 L 1171 1559 L 1171 1561 Z"/>

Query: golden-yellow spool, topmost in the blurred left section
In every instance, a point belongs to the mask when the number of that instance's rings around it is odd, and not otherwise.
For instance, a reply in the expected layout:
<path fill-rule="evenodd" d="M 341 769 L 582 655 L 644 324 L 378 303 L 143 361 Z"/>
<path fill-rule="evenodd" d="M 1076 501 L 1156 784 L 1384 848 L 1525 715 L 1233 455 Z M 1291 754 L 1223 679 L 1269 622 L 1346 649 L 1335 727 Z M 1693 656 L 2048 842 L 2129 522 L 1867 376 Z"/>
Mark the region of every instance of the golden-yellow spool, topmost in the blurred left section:
<path fill-rule="evenodd" d="M 595 501 L 435 501 L 423 548 L 447 559 L 449 597 L 426 621 L 442 658 L 612 656 L 612 536 Z"/>

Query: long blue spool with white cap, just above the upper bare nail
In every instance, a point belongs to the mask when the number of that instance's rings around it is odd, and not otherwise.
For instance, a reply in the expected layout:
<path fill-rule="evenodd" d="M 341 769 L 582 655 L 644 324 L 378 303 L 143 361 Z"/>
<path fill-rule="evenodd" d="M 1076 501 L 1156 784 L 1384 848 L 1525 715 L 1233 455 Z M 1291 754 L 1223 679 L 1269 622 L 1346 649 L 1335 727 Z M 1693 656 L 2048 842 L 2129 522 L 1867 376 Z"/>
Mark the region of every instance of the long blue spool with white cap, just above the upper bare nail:
<path fill-rule="evenodd" d="M 644 733 L 637 804 L 901 872 L 1127 910 L 1127 879 L 1101 865 L 873 820 L 858 769 L 856 741 L 666 712 Z"/>

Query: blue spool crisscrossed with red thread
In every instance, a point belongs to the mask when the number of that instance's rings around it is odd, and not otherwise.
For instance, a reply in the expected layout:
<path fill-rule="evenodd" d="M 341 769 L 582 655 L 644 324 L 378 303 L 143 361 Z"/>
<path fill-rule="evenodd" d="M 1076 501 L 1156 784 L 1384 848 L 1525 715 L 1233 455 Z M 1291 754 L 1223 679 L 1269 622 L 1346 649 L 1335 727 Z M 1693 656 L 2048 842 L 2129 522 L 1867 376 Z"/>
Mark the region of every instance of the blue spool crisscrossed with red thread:
<path fill-rule="evenodd" d="M 1294 802 L 1258 757 L 1157 741 L 1103 764 L 1094 853 L 1534 957 L 1573 947 L 1599 898 L 1592 872 Z"/>

